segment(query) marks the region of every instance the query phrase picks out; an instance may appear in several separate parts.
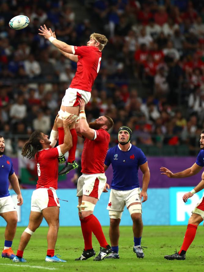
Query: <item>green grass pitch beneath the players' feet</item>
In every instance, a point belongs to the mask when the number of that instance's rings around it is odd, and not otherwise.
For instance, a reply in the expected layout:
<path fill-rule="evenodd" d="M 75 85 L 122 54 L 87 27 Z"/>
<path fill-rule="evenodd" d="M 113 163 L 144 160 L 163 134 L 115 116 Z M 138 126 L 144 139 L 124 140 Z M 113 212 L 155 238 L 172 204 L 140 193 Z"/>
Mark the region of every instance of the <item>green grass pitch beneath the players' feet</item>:
<path fill-rule="evenodd" d="M 4 227 L 0 227 L 0 243 L 4 245 Z M 20 235 L 25 227 L 18 227 L 13 241 L 13 250 L 16 253 Z M 133 253 L 133 234 L 131 226 L 120 227 L 119 255 L 120 259 L 105 259 L 94 262 L 93 258 L 86 261 L 75 261 L 82 253 L 84 244 L 80 227 L 60 227 L 55 248 L 55 254 L 67 260 L 67 263 L 45 263 L 47 250 L 47 227 L 40 227 L 31 237 L 24 251 L 27 263 L 13 263 L 9 259 L 0 259 L 0 271 L 77 271 L 77 272 L 118 272 L 118 271 L 203 271 L 204 264 L 204 229 L 199 226 L 195 240 L 186 255 L 185 261 L 168 261 L 164 255 L 179 251 L 183 242 L 186 226 L 144 226 L 142 246 L 144 259 L 137 259 Z M 103 227 L 108 238 L 108 227 Z M 93 248 L 99 252 L 99 245 L 93 236 Z"/>

